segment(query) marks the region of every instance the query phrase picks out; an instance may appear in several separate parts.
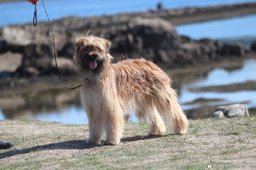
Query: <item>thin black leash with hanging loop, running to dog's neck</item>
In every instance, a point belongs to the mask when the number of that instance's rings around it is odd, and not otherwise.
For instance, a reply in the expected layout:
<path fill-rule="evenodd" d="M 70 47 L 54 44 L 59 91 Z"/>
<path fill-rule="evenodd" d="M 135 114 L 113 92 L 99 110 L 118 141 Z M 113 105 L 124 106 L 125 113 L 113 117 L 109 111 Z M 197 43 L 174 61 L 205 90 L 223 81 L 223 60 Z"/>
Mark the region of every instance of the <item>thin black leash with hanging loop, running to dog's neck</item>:
<path fill-rule="evenodd" d="M 42 0 L 42 4 L 43 4 L 43 6 L 44 6 L 44 1 L 43 1 L 43 0 Z M 47 15 L 47 19 L 48 19 L 48 21 L 49 21 L 49 24 L 50 24 L 50 27 L 51 27 L 51 31 L 52 31 L 52 24 L 51 24 L 51 21 L 50 21 L 50 19 L 49 19 L 48 13 L 46 12 L 45 6 L 44 6 L 44 10 L 45 10 L 45 13 L 46 13 L 46 15 Z M 34 24 L 34 26 L 36 26 L 35 20 L 36 20 L 36 22 L 37 22 L 37 19 L 36 19 L 36 5 L 35 5 L 35 12 L 34 12 L 34 19 L 33 19 L 33 24 Z M 54 49 L 55 65 L 56 65 L 56 69 L 57 69 L 58 76 L 59 76 L 59 79 L 60 79 L 61 84 L 62 84 L 66 89 L 76 89 L 76 88 L 81 87 L 81 86 L 84 84 L 84 81 L 86 81 L 87 79 L 84 78 L 83 83 L 80 84 L 79 86 L 76 86 L 75 88 L 67 88 L 67 86 L 65 86 L 64 82 L 61 80 L 60 71 L 59 71 L 59 69 L 58 69 L 57 59 L 56 59 L 56 52 L 55 52 L 55 43 L 54 43 L 53 31 L 52 31 L 52 42 L 53 42 L 53 49 Z"/>

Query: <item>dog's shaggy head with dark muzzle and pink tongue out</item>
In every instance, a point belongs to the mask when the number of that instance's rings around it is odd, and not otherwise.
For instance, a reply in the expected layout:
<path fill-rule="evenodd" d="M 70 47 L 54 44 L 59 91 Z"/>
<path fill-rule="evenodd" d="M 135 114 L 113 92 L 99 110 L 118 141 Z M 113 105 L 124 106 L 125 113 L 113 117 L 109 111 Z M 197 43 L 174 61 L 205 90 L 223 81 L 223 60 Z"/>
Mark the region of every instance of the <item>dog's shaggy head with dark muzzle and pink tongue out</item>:
<path fill-rule="evenodd" d="M 87 35 L 77 38 L 74 61 L 85 78 L 95 79 L 110 63 L 109 47 L 110 42 L 103 38 Z"/>

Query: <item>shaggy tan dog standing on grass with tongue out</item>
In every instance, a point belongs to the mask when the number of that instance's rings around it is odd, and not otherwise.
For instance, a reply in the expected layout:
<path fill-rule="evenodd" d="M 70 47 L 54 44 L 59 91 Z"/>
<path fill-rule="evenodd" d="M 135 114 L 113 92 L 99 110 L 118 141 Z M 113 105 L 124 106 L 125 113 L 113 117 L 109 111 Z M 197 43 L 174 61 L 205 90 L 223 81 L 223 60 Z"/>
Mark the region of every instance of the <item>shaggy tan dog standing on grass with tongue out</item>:
<path fill-rule="evenodd" d="M 150 125 L 148 135 L 163 135 L 168 122 L 173 134 L 186 134 L 188 119 L 166 73 L 146 59 L 111 63 L 111 42 L 93 35 L 77 38 L 74 62 L 87 79 L 81 87 L 81 103 L 89 120 L 88 144 L 120 143 L 124 115 L 134 112 Z"/>

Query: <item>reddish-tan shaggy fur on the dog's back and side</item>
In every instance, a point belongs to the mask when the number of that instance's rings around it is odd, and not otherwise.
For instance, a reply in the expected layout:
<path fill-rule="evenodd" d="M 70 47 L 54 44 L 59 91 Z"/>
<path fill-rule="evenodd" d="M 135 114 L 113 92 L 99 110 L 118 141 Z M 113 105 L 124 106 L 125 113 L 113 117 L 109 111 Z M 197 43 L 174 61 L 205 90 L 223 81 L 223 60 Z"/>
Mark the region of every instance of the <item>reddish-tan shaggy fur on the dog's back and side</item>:
<path fill-rule="evenodd" d="M 156 88 L 170 86 L 166 73 L 146 59 L 126 59 L 111 65 L 115 72 L 116 89 L 120 95 L 152 95 Z"/>

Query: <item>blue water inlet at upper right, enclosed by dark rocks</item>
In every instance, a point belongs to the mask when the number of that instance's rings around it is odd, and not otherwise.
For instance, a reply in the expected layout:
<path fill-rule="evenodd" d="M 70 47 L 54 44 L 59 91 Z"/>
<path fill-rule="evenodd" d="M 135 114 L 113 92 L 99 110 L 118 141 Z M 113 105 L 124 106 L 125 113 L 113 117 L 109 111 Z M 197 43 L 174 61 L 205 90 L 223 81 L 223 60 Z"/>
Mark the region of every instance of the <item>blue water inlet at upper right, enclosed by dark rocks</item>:
<path fill-rule="evenodd" d="M 256 15 L 235 17 L 232 19 L 212 20 L 195 24 L 177 26 L 180 35 L 186 35 L 193 39 L 200 38 L 247 38 L 256 39 Z"/>

